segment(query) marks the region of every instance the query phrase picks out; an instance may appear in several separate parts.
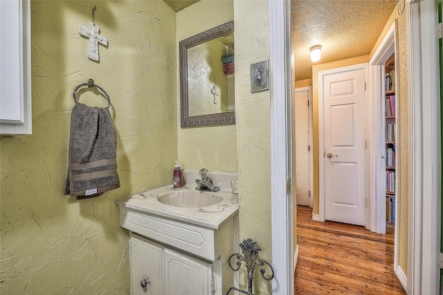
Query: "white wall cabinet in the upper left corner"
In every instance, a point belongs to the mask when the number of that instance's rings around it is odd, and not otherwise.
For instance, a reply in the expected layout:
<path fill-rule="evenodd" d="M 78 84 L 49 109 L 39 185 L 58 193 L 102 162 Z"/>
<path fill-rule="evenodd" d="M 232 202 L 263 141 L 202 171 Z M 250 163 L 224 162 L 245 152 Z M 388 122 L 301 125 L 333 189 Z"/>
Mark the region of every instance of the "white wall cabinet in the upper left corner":
<path fill-rule="evenodd" d="M 0 134 L 31 134 L 30 1 L 0 1 Z"/>

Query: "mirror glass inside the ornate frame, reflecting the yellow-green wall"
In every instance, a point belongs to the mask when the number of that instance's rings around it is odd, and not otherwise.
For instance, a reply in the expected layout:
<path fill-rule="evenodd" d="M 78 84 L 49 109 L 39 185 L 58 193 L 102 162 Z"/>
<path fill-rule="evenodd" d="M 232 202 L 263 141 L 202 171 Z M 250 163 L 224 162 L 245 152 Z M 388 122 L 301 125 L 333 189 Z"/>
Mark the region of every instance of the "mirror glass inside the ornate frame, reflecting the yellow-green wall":
<path fill-rule="evenodd" d="M 189 116 L 234 109 L 234 34 L 188 48 Z"/>

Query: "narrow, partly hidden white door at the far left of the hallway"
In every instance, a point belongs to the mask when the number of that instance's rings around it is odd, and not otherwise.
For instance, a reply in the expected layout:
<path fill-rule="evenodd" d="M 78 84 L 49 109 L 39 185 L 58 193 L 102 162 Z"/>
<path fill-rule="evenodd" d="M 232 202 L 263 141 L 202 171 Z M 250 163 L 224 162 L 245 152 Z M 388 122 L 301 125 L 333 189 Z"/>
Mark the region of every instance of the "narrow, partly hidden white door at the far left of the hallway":
<path fill-rule="evenodd" d="M 309 94 L 311 87 L 296 89 L 294 96 L 294 141 L 296 171 L 294 188 L 298 205 L 309 202 Z"/>

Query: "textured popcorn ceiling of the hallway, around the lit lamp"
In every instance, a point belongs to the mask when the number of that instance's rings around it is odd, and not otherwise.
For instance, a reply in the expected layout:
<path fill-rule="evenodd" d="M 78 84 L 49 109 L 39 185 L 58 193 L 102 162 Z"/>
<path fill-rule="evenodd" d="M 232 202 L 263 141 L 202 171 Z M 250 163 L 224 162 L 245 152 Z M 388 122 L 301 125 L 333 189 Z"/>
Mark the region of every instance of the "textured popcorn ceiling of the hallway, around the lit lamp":
<path fill-rule="evenodd" d="M 296 80 L 311 78 L 312 65 L 368 55 L 398 0 L 291 0 Z M 320 44 L 321 60 L 309 48 Z"/>

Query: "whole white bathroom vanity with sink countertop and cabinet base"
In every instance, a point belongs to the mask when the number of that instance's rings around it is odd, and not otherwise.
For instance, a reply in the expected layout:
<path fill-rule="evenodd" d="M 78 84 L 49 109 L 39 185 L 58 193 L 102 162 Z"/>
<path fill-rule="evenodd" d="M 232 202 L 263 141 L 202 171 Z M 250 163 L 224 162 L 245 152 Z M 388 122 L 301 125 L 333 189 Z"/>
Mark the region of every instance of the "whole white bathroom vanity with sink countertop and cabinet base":
<path fill-rule="evenodd" d="M 232 197 L 169 185 L 119 200 L 120 226 L 130 231 L 132 294 L 225 294 L 238 245 Z"/>

